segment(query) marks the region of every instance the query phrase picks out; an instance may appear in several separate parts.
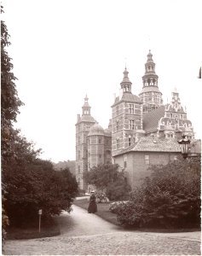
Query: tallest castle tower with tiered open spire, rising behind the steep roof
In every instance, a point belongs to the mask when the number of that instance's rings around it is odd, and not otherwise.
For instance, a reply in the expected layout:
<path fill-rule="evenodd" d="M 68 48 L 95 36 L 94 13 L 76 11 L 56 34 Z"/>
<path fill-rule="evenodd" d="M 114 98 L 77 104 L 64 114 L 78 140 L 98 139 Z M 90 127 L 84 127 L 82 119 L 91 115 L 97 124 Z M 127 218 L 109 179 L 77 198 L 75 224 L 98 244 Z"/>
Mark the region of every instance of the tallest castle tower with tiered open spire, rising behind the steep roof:
<path fill-rule="evenodd" d="M 148 113 L 163 104 L 162 93 L 158 87 L 158 79 L 159 77 L 155 73 L 153 55 L 149 50 L 147 63 L 145 64 L 145 74 L 142 77 L 143 87 L 139 94 L 141 102 L 143 102 L 143 113 Z"/>

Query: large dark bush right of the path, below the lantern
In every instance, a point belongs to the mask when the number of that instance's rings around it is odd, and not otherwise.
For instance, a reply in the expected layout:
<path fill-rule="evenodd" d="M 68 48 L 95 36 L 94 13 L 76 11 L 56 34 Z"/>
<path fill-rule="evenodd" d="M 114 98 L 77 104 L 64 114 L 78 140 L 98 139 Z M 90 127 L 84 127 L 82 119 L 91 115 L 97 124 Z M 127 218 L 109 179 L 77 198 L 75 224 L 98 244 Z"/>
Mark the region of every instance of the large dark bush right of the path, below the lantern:
<path fill-rule="evenodd" d="M 118 221 L 135 227 L 196 227 L 200 224 L 200 162 L 152 166 L 151 177 L 117 210 Z"/>

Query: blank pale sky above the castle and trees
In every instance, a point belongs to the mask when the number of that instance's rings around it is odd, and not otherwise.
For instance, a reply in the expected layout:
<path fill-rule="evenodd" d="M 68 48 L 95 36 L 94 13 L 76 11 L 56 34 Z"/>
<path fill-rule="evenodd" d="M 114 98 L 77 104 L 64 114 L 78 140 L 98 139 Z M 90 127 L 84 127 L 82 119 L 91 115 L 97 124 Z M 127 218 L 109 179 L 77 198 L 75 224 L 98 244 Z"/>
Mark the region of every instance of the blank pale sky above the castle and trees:
<path fill-rule="evenodd" d="M 107 128 L 114 95 L 129 71 L 139 95 L 149 49 L 164 104 L 179 92 L 202 137 L 202 1 L 2 1 L 9 55 L 25 106 L 15 124 L 42 148 L 41 158 L 75 160 L 75 124 L 89 97 L 91 115 Z"/>

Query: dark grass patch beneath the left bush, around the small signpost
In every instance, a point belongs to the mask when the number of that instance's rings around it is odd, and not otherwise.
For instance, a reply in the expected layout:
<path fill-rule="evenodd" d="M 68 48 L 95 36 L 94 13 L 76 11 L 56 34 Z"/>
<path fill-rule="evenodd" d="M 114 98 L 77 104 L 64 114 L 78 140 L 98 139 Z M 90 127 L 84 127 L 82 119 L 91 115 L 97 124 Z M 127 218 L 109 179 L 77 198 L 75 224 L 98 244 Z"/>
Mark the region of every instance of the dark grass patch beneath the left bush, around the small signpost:
<path fill-rule="evenodd" d="M 61 234 L 59 225 L 52 218 L 49 225 L 41 225 L 41 230 L 39 233 L 38 223 L 36 224 L 27 224 L 25 227 L 8 227 L 6 239 L 15 240 L 15 239 L 33 239 L 40 237 L 50 237 L 50 236 L 59 236 Z"/>

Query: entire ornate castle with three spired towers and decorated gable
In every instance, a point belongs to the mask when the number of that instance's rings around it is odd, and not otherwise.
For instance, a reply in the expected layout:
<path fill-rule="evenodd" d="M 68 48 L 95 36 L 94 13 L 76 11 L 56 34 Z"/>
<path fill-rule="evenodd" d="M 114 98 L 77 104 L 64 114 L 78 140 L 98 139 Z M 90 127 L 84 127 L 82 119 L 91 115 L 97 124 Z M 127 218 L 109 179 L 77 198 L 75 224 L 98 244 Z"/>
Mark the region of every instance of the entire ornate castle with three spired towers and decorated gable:
<path fill-rule="evenodd" d="M 179 94 L 172 92 L 171 102 L 163 105 L 150 50 L 139 96 L 132 94 L 128 74 L 125 67 L 120 95 L 113 102 L 107 129 L 91 116 L 88 97 L 84 98 L 83 113 L 78 114 L 76 123 L 76 177 L 80 189 L 87 189 L 84 172 L 108 162 L 118 163 L 130 184 L 136 186 L 148 175 L 149 165 L 166 164 L 181 154 L 177 138 L 182 134 L 194 138 Z"/>

